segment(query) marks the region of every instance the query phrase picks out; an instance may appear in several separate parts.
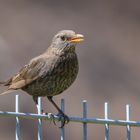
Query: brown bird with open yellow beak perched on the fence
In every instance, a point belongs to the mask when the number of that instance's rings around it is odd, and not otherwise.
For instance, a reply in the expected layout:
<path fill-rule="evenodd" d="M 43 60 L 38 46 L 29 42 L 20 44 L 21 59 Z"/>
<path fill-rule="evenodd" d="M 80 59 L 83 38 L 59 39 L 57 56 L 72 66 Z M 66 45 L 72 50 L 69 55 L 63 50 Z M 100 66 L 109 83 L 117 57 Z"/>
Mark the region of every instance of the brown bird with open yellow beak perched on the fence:
<path fill-rule="evenodd" d="M 37 107 L 38 97 L 47 97 L 63 117 L 60 127 L 64 127 L 69 118 L 57 106 L 53 97 L 68 89 L 75 81 L 79 71 L 76 45 L 83 40 L 84 36 L 73 30 L 59 31 L 45 52 L 31 59 L 9 80 L 0 82 L 7 87 L 0 95 L 21 89 L 32 96 Z"/>

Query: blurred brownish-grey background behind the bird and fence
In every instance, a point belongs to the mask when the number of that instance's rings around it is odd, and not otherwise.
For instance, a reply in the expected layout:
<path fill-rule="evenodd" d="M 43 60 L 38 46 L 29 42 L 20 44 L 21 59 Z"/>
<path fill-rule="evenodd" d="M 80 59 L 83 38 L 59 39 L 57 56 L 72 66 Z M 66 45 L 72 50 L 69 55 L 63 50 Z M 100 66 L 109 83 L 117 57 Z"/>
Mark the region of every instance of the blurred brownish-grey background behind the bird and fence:
<path fill-rule="evenodd" d="M 88 101 L 88 117 L 103 118 L 104 102 L 109 116 L 125 119 L 131 104 L 132 120 L 140 121 L 140 1 L 138 0 L 0 0 L 0 81 L 42 53 L 59 30 L 72 29 L 85 36 L 77 46 L 80 71 L 75 83 L 54 97 L 66 101 L 66 114 L 82 116 L 82 100 Z M 0 87 L 0 92 L 4 91 Z M 28 94 L 17 91 L 0 97 L 1 111 L 14 111 L 14 96 L 20 94 L 20 111 L 36 112 Z M 43 99 L 47 112 L 56 113 Z M 59 129 L 43 121 L 43 138 L 57 140 Z M 14 140 L 15 119 L 0 118 L 0 137 Z M 139 140 L 140 128 L 132 139 Z M 111 126 L 111 138 L 126 138 L 124 127 Z M 37 139 L 37 121 L 21 119 L 21 140 Z M 66 126 L 67 140 L 82 139 L 82 125 Z M 89 140 L 104 139 L 104 126 L 89 125 Z"/>

